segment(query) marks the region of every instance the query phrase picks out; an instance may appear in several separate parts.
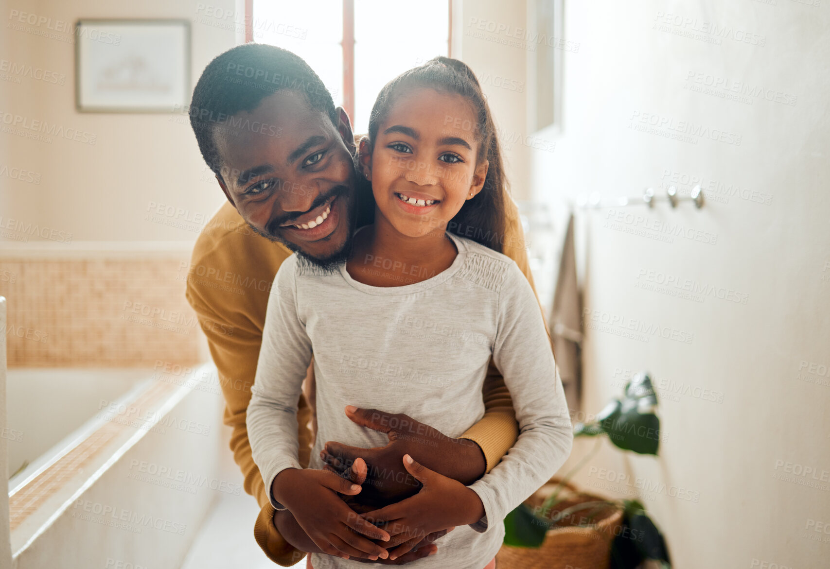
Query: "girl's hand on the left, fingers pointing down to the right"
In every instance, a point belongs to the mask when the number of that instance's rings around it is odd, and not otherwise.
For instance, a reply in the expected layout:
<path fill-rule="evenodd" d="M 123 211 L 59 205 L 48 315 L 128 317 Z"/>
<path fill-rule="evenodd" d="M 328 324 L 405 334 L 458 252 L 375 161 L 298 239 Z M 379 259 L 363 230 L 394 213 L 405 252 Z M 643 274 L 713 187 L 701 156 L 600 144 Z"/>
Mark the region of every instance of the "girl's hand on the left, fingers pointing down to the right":
<path fill-rule="evenodd" d="M 285 469 L 276 475 L 271 492 L 320 551 L 344 559 L 388 557 L 383 547 L 369 540 L 386 542 L 389 534 L 367 522 L 338 495 L 358 494 L 358 484 L 325 470 Z"/>

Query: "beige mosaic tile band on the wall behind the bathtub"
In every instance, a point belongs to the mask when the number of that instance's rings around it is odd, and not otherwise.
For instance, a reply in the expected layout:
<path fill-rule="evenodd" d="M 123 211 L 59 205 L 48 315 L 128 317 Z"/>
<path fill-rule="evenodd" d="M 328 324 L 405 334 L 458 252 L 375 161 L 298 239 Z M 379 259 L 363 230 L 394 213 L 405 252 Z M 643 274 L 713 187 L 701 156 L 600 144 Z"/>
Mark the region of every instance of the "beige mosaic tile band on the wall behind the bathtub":
<path fill-rule="evenodd" d="M 169 256 L 29 260 L 0 253 L 8 367 L 144 367 L 205 359 L 199 357 L 203 334 L 184 298 L 182 266 Z"/>

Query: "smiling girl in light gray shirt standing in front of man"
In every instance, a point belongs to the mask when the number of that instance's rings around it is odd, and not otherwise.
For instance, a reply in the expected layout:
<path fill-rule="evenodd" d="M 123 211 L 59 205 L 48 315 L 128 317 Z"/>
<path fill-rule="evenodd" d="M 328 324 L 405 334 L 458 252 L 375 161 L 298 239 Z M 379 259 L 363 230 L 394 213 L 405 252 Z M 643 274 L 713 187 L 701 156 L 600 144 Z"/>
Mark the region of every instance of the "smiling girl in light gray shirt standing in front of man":
<path fill-rule="evenodd" d="M 450 527 L 418 567 L 492 567 L 505 515 L 559 469 L 573 435 L 535 294 L 501 254 L 510 197 L 495 124 L 470 68 L 437 57 L 389 82 L 372 109 L 359 168 L 372 183 L 374 224 L 357 231 L 349 260 L 331 271 L 292 255 L 276 274 L 247 411 L 254 460 L 275 508 L 291 510 L 322 551 L 340 556 L 314 553 L 315 567 L 364 567 L 344 552 L 386 558 L 384 541 L 414 536 L 395 557 Z M 318 432 L 302 470 L 295 412 L 312 350 Z M 456 437 L 484 414 L 491 357 L 520 426 L 508 455 L 470 486 L 441 477 L 413 498 L 355 517 L 332 490 L 354 495 L 359 486 L 317 470 L 320 450 L 333 439 L 383 446 L 386 435 L 356 426 L 344 405 L 406 413 Z M 411 457 L 403 462 L 425 479 Z M 418 497 L 428 513 L 405 507 Z"/>

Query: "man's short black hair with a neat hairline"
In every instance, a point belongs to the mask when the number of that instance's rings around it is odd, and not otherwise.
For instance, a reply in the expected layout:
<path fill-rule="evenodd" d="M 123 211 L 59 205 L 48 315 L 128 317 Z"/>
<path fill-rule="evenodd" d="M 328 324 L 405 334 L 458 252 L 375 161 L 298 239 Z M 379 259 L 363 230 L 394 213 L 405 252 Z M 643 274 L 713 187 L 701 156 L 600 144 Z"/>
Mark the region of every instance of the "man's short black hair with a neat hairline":
<path fill-rule="evenodd" d="M 286 89 L 305 95 L 313 109 L 328 114 L 337 125 L 329 90 L 303 58 L 291 51 L 247 43 L 225 51 L 207 64 L 193 89 L 188 114 L 202 157 L 214 173 L 221 176 L 214 129 L 245 129 L 245 124 L 232 119 L 233 115 L 251 112 L 267 96 Z M 270 134 L 275 135 L 272 131 Z"/>

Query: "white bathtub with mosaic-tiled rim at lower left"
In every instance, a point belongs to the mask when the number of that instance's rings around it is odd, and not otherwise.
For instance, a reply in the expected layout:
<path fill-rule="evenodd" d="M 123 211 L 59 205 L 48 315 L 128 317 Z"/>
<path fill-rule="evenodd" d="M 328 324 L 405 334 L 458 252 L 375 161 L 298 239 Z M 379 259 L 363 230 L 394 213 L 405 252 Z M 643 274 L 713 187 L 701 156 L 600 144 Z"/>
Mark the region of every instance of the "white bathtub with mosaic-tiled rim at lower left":
<path fill-rule="evenodd" d="M 7 372 L 14 569 L 178 567 L 222 474 L 215 367 Z M 14 439 L 14 440 L 12 440 Z"/>

